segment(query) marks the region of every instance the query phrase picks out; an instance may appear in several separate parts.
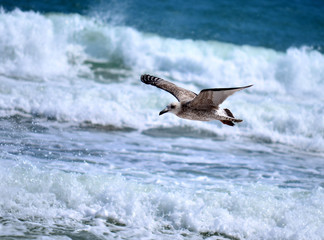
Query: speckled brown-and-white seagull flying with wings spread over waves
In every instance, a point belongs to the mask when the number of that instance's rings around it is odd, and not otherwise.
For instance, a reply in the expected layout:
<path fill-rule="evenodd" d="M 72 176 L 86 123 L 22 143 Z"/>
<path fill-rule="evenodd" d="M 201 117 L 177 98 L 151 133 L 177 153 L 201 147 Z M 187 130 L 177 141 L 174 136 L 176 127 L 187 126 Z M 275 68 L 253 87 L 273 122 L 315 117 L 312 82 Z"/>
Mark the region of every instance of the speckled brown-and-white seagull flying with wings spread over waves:
<path fill-rule="evenodd" d="M 203 89 L 197 95 L 192 91 L 178 87 L 174 83 L 149 74 L 143 74 L 141 81 L 171 93 L 178 100 L 178 102 L 167 105 L 159 115 L 171 112 L 184 119 L 197 121 L 219 120 L 229 126 L 234 126 L 235 122 L 242 122 L 243 120 L 235 118 L 229 109 L 219 108 L 219 105 L 235 92 L 253 86 Z"/>

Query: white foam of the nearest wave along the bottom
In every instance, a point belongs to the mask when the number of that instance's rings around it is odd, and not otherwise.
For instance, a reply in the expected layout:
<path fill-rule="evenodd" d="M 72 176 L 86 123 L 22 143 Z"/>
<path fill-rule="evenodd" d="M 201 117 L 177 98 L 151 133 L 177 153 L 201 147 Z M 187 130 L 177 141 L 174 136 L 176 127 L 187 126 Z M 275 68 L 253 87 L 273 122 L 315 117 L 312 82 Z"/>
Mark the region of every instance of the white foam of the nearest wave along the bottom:
<path fill-rule="evenodd" d="M 42 170 L 26 161 L 1 168 L 0 180 L 0 237 L 32 229 L 53 237 L 82 233 L 138 239 L 200 239 L 216 233 L 238 239 L 321 239 L 324 234 L 321 188 L 166 187 L 93 171 Z"/>

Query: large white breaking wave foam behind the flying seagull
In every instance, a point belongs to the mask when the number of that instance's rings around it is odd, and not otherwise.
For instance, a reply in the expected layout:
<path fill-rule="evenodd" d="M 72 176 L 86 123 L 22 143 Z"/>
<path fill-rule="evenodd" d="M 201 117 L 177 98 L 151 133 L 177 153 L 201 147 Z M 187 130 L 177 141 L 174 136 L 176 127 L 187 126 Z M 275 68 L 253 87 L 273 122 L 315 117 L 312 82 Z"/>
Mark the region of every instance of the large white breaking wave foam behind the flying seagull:
<path fill-rule="evenodd" d="M 28 36 L 28 37 L 27 37 Z M 163 38 L 80 15 L 0 13 L 0 113 L 132 127 L 191 126 L 323 152 L 324 56 Z M 254 84 L 224 103 L 236 128 L 158 118 L 173 97 L 142 85 L 156 74 L 198 92 Z M 220 125 L 218 125 L 220 126 Z"/>

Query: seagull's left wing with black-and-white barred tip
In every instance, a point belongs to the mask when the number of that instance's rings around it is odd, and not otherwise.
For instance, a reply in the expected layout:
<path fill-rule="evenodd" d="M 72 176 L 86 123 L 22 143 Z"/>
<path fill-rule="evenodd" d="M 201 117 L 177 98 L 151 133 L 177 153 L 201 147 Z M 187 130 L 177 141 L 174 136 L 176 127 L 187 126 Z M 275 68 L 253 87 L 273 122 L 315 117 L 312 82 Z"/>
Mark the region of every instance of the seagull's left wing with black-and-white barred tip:
<path fill-rule="evenodd" d="M 156 86 L 158 88 L 161 88 L 169 93 L 171 93 L 173 96 L 178 99 L 179 102 L 182 101 L 191 101 L 194 99 L 197 94 L 194 92 L 191 92 L 187 89 L 178 87 L 174 83 L 171 83 L 169 81 L 166 81 L 162 78 L 154 77 L 148 74 L 143 74 L 141 76 L 141 81 L 145 84 L 151 84 L 153 86 Z"/>

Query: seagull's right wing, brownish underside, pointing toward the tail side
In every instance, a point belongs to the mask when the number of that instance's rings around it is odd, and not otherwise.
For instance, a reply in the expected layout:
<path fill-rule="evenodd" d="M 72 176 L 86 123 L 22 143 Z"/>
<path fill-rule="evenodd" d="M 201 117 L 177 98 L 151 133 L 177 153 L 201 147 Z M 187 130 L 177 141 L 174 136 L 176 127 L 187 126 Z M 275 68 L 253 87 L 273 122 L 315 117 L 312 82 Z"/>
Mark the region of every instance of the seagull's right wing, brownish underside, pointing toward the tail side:
<path fill-rule="evenodd" d="M 218 107 L 225 99 L 237 91 L 240 91 L 244 88 L 251 87 L 253 85 L 248 85 L 245 87 L 236 87 L 236 88 L 211 88 L 203 89 L 200 91 L 197 97 L 195 97 L 189 104 L 192 108 L 210 108 Z"/>

